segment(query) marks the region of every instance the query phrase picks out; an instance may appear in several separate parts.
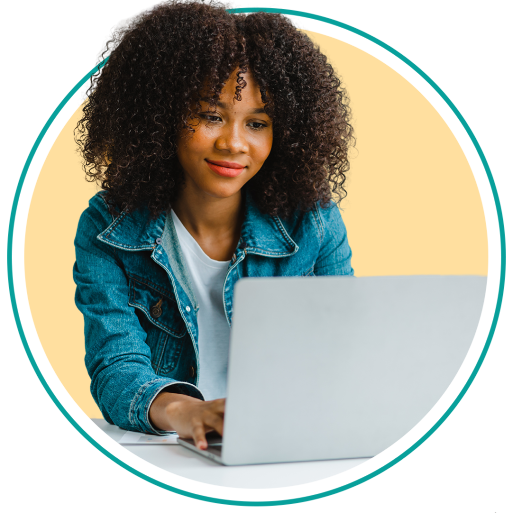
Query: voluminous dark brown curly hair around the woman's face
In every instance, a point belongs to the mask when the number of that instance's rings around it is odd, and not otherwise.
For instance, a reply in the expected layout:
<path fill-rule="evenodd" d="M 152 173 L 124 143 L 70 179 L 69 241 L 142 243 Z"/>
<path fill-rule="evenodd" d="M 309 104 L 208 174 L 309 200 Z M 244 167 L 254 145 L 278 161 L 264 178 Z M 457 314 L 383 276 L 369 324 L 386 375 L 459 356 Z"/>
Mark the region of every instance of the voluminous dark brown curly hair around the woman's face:
<path fill-rule="evenodd" d="M 218 2 L 219 4 L 219 2 Z M 233 70 L 236 98 L 248 69 L 273 120 L 272 149 L 244 187 L 263 213 L 289 218 L 315 204 L 340 202 L 353 143 L 345 89 L 326 56 L 291 19 L 278 13 L 234 13 L 198 2 L 153 9 L 98 58 L 76 140 L 89 181 L 107 191 L 111 212 L 147 206 L 153 218 L 172 208 L 183 170 L 176 139 L 212 108 Z M 88 169 L 90 167 L 90 169 Z"/>

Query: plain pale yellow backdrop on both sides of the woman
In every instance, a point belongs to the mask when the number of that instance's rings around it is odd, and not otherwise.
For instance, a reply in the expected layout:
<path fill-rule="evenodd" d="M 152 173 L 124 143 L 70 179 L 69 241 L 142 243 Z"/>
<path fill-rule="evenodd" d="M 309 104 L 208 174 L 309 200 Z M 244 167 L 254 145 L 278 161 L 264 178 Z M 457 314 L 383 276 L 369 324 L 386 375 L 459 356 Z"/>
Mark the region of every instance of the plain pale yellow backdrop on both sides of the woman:
<path fill-rule="evenodd" d="M 479 188 L 439 112 L 373 55 L 303 31 L 326 54 L 351 98 L 357 146 L 341 210 L 355 275 L 487 275 Z M 34 327 L 55 375 L 85 415 L 102 418 L 89 391 L 84 320 L 72 277 L 78 219 L 100 190 L 85 181 L 74 142 L 81 117 L 82 106 L 56 137 L 37 177 L 25 230 L 25 282 Z"/>

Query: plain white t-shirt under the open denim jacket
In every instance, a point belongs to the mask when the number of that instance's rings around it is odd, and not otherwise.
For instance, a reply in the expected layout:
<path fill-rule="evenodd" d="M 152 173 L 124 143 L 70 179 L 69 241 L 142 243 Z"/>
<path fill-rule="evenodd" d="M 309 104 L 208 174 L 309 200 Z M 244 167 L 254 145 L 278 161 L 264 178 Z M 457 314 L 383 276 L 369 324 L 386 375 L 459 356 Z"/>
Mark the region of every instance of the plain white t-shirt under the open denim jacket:
<path fill-rule="evenodd" d="M 230 261 L 208 257 L 172 210 L 171 215 L 199 306 L 198 388 L 206 401 L 225 398 L 230 326 L 224 311 L 223 285 Z"/>

